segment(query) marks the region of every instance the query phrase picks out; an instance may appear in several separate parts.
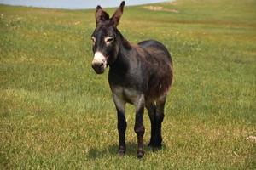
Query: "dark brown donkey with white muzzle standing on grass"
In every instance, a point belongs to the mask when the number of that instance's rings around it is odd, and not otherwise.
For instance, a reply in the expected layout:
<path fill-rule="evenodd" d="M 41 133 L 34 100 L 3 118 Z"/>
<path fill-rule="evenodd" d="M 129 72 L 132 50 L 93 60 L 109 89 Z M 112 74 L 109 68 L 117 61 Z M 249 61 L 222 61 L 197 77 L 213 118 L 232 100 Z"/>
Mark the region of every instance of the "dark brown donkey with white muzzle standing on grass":
<path fill-rule="evenodd" d="M 149 146 L 161 147 L 161 123 L 166 95 L 172 85 L 172 59 L 163 44 L 154 40 L 131 45 L 117 29 L 125 2 L 109 18 L 101 6 L 96 7 L 96 29 L 91 39 L 92 68 L 102 74 L 109 65 L 108 82 L 118 116 L 119 156 L 125 155 L 125 104 L 136 107 L 134 131 L 137 133 L 137 157 L 142 158 L 143 112 L 146 107 L 151 122 Z"/>

